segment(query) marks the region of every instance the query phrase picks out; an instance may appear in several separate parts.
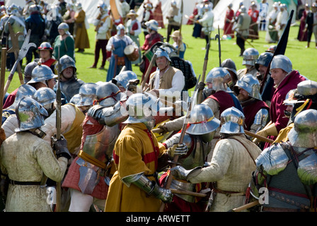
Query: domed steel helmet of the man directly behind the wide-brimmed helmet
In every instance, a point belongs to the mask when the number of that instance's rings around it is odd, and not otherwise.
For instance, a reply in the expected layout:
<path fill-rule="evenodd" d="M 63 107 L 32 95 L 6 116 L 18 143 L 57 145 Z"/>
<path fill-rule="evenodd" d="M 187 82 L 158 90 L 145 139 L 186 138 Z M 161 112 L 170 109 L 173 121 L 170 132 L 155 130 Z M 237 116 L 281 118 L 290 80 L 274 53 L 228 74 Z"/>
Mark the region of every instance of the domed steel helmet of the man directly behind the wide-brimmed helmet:
<path fill-rule="evenodd" d="M 209 71 L 206 77 L 206 82 L 212 83 L 212 90 L 216 92 L 219 90 L 226 91 L 228 86 L 225 83 L 225 78 L 228 76 L 230 76 L 229 71 L 224 68 L 217 67 Z"/>

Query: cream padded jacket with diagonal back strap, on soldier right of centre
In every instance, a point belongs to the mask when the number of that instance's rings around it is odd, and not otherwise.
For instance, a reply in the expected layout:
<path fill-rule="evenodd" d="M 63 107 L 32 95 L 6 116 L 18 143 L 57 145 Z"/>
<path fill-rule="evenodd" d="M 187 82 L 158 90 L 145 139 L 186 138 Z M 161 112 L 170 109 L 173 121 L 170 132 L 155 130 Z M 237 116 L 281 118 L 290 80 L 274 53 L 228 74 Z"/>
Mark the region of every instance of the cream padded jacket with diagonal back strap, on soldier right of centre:
<path fill-rule="evenodd" d="M 232 138 L 241 141 L 243 145 Z M 218 141 L 214 148 L 212 161 L 209 167 L 194 172 L 188 178 L 192 183 L 217 182 L 217 189 L 222 191 L 245 192 L 255 170 L 255 160 L 260 155 L 260 148 L 244 135 L 232 136 Z M 250 155 L 252 155 L 252 158 Z M 231 195 L 217 193 L 212 205 L 212 212 L 227 212 L 233 208 L 243 206 L 244 195 Z"/>

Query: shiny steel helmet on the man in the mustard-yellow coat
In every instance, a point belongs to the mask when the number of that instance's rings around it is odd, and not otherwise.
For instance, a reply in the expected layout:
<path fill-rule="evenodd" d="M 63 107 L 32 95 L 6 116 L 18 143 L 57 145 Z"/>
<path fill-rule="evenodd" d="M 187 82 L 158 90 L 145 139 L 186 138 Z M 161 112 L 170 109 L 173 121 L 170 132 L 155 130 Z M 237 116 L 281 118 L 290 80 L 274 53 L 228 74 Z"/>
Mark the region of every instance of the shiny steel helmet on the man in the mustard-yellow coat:
<path fill-rule="evenodd" d="M 159 114 L 161 102 L 150 93 L 135 93 L 129 96 L 126 102 L 126 109 L 129 117 L 125 123 L 151 123 Z M 154 124 L 152 124 L 154 126 Z"/>

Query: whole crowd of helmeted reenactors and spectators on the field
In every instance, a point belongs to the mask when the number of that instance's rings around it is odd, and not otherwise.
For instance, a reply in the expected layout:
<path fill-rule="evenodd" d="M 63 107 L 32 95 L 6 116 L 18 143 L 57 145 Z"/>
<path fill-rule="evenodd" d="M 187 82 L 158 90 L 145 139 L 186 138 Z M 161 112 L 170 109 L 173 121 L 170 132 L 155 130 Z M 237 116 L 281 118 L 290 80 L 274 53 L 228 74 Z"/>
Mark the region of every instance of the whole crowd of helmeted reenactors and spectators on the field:
<path fill-rule="evenodd" d="M 236 30 L 246 68 L 237 70 L 225 59 L 204 71 L 206 78 L 190 87 L 195 92 L 189 96 L 186 86 L 195 72 L 184 60 L 181 7 L 175 1 L 167 18 L 173 44 L 158 32 L 162 20 L 151 15 L 150 1 L 144 2 L 142 21 L 125 0 L 119 18 L 98 4 L 91 68 L 100 50 L 100 69 L 107 59 L 109 68 L 106 81 L 97 83 L 76 76 L 74 50 L 89 48 L 81 4 L 75 3 L 73 14 L 71 4 L 59 2 L 59 24 L 43 16 L 42 1 L 30 1 L 23 10 L 6 8 L 4 17 L 14 28 L 20 28 L 19 13 L 30 23 L 20 32 L 44 30 L 34 38 L 38 51 L 27 54 L 24 83 L 4 100 L 1 211 L 316 211 L 317 82 L 293 69 L 287 56 L 275 54 L 276 46 L 262 53 L 244 48 L 246 38 L 258 36 L 255 14 L 259 29 L 267 27 L 267 14 L 256 13 L 255 4 L 252 16 L 241 5 L 236 19 L 229 5 L 224 26 L 224 35 Z M 202 18 L 189 21 L 195 23 L 193 35 L 201 29 L 208 44 L 213 6 L 202 4 L 195 9 Z M 55 37 L 47 25 L 57 30 Z M 142 30 L 144 44 L 138 39 Z M 143 67 L 141 82 L 132 64 Z"/>

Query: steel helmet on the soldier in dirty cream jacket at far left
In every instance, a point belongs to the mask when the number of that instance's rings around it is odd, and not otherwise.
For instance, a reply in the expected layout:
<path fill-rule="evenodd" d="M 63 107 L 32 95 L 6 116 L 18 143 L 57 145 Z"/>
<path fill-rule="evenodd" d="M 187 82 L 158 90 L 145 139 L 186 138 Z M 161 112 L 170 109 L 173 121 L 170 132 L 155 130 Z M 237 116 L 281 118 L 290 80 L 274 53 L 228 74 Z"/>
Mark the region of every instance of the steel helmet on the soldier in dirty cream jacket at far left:
<path fill-rule="evenodd" d="M 23 97 L 16 107 L 16 117 L 18 128 L 15 131 L 28 131 L 44 125 L 44 117 L 47 117 L 47 111 L 33 98 Z"/>

